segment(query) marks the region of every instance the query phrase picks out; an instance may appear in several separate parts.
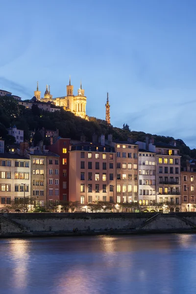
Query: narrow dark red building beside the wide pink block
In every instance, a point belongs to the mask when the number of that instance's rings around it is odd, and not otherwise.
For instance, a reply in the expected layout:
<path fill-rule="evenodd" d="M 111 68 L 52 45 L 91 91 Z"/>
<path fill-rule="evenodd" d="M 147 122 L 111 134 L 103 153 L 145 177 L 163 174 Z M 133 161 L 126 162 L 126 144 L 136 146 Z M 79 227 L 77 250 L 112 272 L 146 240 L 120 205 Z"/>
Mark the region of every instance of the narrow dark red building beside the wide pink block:
<path fill-rule="evenodd" d="M 69 201 L 70 139 L 58 137 L 57 141 L 47 148 L 59 155 L 59 199 Z"/>

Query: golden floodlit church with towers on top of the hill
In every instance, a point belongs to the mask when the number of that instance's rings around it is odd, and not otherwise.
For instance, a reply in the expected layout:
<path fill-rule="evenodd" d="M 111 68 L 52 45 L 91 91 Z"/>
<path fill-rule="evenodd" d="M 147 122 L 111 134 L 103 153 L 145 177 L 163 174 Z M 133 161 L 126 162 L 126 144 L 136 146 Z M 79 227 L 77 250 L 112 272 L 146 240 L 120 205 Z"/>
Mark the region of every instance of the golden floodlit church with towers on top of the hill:
<path fill-rule="evenodd" d="M 65 110 L 73 112 L 76 116 L 82 119 L 88 119 L 86 115 L 86 96 L 84 96 L 84 89 L 80 82 L 80 88 L 77 90 L 77 95 L 73 95 L 73 85 L 71 85 L 71 78 L 67 86 L 67 96 L 52 98 L 50 95 L 50 86 L 46 86 L 44 98 L 41 98 L 41 91 L 39 91 L 37 82 L 37 91 L 34 91 L 34 97 L 38 101 L 53 102 L 56 106 L 62 106 Z"/>

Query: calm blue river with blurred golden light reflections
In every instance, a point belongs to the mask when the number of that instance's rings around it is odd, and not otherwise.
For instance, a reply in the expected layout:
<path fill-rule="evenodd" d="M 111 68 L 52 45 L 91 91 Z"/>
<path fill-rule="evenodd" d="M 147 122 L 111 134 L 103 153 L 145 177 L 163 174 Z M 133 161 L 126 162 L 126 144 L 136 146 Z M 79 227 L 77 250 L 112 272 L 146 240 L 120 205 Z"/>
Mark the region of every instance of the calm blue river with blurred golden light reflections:
<path fill-rule="evenodd" d="M 196 294 L 196 235 L 0 239 L 0 294 Z"/>

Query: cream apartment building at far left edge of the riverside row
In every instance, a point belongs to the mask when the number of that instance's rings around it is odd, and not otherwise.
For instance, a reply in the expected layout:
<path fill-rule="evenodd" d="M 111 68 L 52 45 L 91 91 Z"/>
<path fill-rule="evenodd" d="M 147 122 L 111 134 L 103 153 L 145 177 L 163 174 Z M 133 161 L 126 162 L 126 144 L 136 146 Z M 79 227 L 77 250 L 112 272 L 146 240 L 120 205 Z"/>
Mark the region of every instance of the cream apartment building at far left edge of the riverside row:
<path fill-rule="evenodd" d="M 11 200 L 30 198 L 30 160 L 18 154 L 0 154 L 0 208 Z M 25 191 L 24 191 L 25 190 Z"/>

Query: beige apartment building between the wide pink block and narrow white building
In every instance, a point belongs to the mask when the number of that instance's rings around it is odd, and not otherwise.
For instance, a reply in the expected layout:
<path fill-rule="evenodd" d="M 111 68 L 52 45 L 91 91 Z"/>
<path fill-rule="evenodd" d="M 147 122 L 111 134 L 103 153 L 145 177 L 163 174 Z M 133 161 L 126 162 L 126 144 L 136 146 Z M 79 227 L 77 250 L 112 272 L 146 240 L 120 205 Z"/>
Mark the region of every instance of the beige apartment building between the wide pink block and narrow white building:
<path fill-rule="evenodd" d="M 116 150 L 117 202 L 137 202 L 138 145 L 129 141 L 113 142 Z"/>

